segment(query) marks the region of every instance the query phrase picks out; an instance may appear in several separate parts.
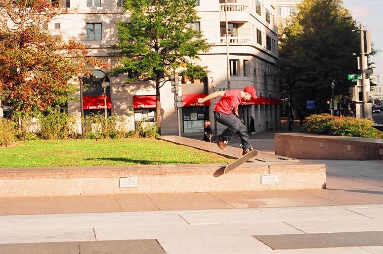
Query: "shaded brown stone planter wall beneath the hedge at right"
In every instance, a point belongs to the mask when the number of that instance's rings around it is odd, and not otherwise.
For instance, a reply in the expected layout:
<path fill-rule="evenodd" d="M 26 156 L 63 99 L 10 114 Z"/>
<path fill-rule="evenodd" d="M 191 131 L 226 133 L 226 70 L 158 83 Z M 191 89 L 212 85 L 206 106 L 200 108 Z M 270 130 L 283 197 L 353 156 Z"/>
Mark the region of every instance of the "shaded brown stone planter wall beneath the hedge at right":
<path fill-rule="evenodd" d="M 383 140 L 315 134 L 275 134 L 275 154 L 297 159 L 383 159 Z"/>

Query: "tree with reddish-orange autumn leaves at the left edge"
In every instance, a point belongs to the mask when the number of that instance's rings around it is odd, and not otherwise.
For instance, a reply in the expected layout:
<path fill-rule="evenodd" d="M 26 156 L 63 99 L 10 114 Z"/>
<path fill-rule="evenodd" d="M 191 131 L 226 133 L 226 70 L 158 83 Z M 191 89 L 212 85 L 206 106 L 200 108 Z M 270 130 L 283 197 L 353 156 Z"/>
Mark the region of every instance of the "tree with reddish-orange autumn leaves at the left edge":
<path fill-rule="evenodd" d="M 45 27 L 67 10 L 46 0 L 0 0 L 0 100 L 14 112 L 34 114 L 65 104 L 73 76 L 98 64 L 83 45 L 62 41 Z"/>

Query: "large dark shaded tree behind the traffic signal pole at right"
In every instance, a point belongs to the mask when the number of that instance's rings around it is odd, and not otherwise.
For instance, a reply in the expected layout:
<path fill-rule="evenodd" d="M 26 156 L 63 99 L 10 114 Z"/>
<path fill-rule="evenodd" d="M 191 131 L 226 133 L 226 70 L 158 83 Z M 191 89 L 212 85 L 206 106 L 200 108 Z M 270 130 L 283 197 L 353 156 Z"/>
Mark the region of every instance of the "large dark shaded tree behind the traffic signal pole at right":
<path fill-rule="evenodd" d="M 335 93 L 349 93 L 355 83 L 348 74 L 359 73 L 353 53 L 360 52 L 360 35 L 356 23 L 346 19 L 350 13 L 341 0 L 303 0 L 289 25 L 279 37 L 282 91 L 297 108 L 306 100 L 316 100 L 325 108 Z"/>

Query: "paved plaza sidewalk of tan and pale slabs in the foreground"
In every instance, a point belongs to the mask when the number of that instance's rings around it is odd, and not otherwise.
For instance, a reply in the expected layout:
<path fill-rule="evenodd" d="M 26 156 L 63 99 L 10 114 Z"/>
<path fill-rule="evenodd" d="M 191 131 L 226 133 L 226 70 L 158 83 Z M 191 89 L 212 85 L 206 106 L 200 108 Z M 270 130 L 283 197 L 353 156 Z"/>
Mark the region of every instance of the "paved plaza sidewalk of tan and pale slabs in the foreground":
<path fill-rule="evenodd" d="M 0 199 L 0 253 L 383 253 L 382 162 L 297 163 L 327 189 Z"/>

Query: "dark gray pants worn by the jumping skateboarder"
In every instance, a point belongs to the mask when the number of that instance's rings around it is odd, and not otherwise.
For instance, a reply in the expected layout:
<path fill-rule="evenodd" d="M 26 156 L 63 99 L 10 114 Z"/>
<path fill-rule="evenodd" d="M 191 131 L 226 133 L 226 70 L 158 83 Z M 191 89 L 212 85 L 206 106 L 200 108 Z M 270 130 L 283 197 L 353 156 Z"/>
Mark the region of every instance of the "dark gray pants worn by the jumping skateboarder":
<path fill-rule="evenodd" d="M 230 140 L 234 134 L 239 133 L 239 138 L 242 141 L 242 148 L 246 150 L 250 148 L 249 136 L 246 132 L 246 126 L 241 122 L 241 120 L 235 116 L 233 113 L 224 114 L 221 112 L 214 111 L 214 118 L 225 126 L 228 126 L 222 134 L 220 135 L 220 140 Z"/>

